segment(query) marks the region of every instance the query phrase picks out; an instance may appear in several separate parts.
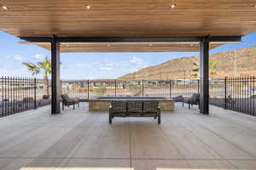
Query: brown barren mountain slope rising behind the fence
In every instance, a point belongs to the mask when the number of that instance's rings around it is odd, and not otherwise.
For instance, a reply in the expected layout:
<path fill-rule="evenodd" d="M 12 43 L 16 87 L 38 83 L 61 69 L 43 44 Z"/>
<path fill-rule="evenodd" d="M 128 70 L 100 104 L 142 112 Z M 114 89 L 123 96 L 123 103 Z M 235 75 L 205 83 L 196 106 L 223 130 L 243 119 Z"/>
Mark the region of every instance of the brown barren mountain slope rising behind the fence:
<path fill-rule="evenodd" d="M 256 46 L 210 54 L 210 60 L 218 61 L 210 77 L 242 77 L 256 75 Z M 171 59 L 160 65 L 149 66 L 119 77 L 118 80 L 170 80 L 197 78 L 191 76 L 199 57 Z M 195 72 L 194 72 L 195 73 Z"/>

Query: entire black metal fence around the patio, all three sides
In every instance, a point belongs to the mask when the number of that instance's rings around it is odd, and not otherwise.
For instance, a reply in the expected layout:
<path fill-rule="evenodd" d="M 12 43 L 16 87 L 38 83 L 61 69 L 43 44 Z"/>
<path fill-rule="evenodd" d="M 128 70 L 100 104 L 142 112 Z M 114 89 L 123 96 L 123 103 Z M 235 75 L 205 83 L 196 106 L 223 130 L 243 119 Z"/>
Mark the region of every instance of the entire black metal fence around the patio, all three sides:
<path fill-rule="evenodd" d="M 50 85 L 50 82 L 49 82 Z M 256 116 L 256 77 L 210 80 L 210 104 Z M 49 88 L 49 90 L 47 90 Z M 0 77 L 0 116 L 50 104 L 50 86 L 36 78 Z M 190 97 L 199 94 L 198 80 L 61 81 L 61 94 L 88 100 L 100 96 Z"/>

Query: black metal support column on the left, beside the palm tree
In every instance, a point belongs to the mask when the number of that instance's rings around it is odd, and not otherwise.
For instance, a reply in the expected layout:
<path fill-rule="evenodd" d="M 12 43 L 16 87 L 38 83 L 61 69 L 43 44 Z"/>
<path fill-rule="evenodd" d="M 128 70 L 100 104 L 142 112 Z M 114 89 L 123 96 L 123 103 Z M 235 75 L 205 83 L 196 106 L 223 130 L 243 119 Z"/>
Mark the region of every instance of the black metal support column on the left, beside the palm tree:
<path fill-rule="evenodd" d="M 60 107 L 60 42 L 56 42 L 55 37 L 51 42 L 51 114 L 61 112 Z"/>

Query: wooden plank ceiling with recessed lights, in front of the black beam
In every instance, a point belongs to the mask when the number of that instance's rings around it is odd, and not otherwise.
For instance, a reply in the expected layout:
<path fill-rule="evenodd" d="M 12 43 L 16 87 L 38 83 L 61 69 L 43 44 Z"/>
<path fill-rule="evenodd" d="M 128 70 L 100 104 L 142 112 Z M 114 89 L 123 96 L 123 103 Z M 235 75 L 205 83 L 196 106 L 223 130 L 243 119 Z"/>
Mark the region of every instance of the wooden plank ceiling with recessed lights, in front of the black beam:
<path fill-rule="evenodd" d="M 0 30 L 17 37 L 240 36 L 256 31 L 256 0 L 0 0 L 0 6 Z M 132 46 L 124 50 L 144 48 Z M 191 51 L 193 46 L 172 47 Z M 81 44 L 70 52 L 75 49 Z"/>

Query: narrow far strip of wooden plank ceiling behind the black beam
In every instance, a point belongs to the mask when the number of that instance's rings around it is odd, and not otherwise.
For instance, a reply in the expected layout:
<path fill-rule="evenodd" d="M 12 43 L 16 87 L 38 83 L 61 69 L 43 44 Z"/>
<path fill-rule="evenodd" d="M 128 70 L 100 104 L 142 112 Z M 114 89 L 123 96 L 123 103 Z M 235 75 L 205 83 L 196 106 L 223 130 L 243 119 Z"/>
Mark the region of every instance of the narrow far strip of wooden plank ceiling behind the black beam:
<path fill-rule="evenodd" d="M 50 50 L 49 43 L 42 42 L 21 42 L 24 44 L 35 44 L 41 48 Z M 210 48 L 216 48 L 223 43 L 211 43 Z M 83 52 L 197 52 L 199 43 L 84 43 L 84 42 L 61 42 L 62 53 L 83 53 Z"/>

